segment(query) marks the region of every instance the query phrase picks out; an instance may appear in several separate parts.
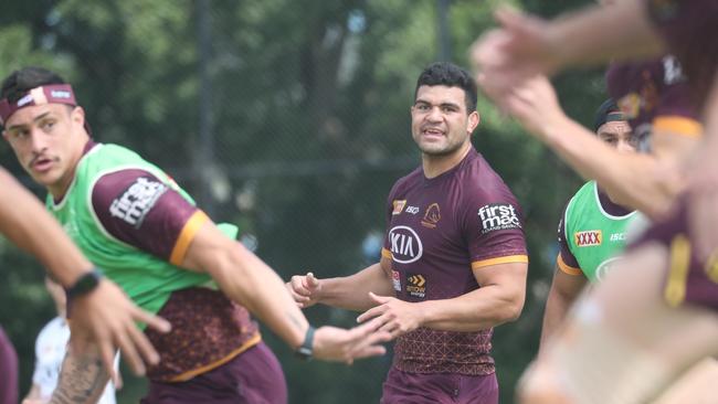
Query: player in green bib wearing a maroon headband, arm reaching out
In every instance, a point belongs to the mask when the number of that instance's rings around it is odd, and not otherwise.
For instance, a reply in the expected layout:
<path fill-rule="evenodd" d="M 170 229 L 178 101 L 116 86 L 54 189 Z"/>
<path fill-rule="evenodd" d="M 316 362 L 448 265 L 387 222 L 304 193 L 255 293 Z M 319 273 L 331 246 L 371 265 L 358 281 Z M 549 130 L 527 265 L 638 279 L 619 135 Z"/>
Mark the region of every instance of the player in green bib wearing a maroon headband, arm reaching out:
<path fill-rule="evenodd" d="M 384 352 L 378 343 L 390 336 L 376 332 L 377 321 L 310 327 L 282 279 L 234 240 L 236 227 L 212 223 L 137 153 L 94 142 L 84 109 L 56 74 L 14 72 L 0 97 L 3 135 L 47 189 L 47 209 L 104 276 L 172 325 L 166 334 L 145 330 L 161 361 L 147 372 L 142 403 L 286 403 L 284 374 L 250 311 L 304 358 L 350 362 Z M 68 290 L 70 318 L 77 295 L 103 275 Z M 52 403 L 94 402 L 108 378 L 98 359 L 97 350 L 71 350 Z"/>

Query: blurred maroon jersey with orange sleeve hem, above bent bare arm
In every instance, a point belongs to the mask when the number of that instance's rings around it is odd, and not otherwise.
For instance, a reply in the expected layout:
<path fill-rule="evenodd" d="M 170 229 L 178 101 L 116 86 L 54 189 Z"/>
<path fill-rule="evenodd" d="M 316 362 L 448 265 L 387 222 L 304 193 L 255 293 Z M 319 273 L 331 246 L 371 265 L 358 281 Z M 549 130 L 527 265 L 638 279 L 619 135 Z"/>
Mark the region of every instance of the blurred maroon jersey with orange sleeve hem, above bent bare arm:
<path fill-rule="evenodd" d="M 647 139 L 653 130 L 693 137 L 703 131 L 688 82 L 673 55 L 614 63 L 606 72 L 606 86 L 638 139 Z"/>

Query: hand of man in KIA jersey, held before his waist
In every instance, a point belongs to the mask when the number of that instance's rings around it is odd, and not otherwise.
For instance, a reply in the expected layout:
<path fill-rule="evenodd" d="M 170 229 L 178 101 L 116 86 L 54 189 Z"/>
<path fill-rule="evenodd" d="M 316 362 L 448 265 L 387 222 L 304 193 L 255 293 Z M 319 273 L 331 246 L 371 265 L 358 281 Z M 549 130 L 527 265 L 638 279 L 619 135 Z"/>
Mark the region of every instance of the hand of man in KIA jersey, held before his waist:
<path fill-rule="evenodd" d="M 421 327 L 422 311 L 414 304 L 399 300 L 395 297 L 377 296 L 371 291 L 369 297 L 379 306 L 357 317 L 358 322 L 365 322 L 373 318 L 372 322 L 379 321 L 381 325 L 379 331 L 389 332 L 392 338 Z"/>

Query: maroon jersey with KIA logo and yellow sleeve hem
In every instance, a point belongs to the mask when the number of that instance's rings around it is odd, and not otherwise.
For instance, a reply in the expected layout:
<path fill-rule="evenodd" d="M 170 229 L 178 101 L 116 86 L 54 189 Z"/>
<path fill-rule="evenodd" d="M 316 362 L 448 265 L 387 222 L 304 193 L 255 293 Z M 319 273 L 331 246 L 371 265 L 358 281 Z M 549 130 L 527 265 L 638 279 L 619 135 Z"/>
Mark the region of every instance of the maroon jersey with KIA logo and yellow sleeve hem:
<path fill-rule="evenodd" d="M 473 270 L 527 263 L 516 198 L 473 148 L 456 167 L 427 179 L 421 168 L 389 194 L 382 255 L 392 259 L 399 299 L 451 299 L 481 286 Z M 492 330 L 420 328 L 400 337 L 394 365 L 410 373 L 489 374 Z"/>

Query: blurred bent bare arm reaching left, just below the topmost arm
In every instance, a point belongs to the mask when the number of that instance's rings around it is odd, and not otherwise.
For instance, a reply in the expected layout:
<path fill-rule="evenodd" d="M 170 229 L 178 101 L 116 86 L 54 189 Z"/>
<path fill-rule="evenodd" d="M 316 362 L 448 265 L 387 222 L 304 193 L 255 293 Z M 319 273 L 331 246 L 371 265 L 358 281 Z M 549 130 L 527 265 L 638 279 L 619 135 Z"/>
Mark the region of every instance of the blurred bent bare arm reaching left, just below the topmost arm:
<path fill-rule="evenodd" d="M 652 155 L 621 153 L 567 117 L 553 87 L 543 76 L 497 96 L 501 106 L 532 136 L 583 178 L 596 180 L 614 202 L 655 217 L 682 191 L 684 179 L 678 168 L 697 143 L 696 139 L 655 131 Z"/>

